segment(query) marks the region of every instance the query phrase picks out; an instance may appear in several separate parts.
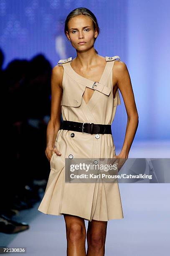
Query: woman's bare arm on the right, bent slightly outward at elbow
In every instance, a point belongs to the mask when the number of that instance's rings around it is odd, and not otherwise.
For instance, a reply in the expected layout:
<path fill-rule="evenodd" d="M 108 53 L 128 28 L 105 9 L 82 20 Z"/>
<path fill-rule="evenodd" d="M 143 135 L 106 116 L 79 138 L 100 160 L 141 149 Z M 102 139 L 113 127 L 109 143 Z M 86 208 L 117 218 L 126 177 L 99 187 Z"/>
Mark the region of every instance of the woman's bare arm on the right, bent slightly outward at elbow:
<path fill-rule="evenodd" d="M 127 111 L 126 133 L 119 157 L 128 158 L 128 154 L 137 131 L 139 116 L 137 113 L 131 79 L 126 64 L 122 61 L 116 61 L 113 69 L 115 79 L 114 83 L 117 84 L 117 87 L 122 94 Z"/>

